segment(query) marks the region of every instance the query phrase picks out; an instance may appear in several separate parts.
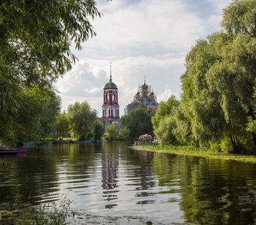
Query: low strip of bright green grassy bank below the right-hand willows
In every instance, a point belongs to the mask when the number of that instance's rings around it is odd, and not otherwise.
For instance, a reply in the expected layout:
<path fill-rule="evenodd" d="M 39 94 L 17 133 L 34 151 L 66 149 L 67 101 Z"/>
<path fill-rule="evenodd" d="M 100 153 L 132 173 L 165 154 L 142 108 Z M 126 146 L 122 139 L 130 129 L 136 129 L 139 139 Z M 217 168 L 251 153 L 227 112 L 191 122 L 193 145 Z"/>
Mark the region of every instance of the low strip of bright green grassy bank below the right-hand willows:
<path fill-rule="evenodd" d="M 193 155 L 198 157 L 209 157 L 222 160 L 236 160 L 244 163 L 256 163 L 256 155 L 228 154 L 212 151 L 208 148 L 195 148 L 193 146 L 176 145 L 136 145 L 139 150 L 157 151 L 169 154 Z"/>

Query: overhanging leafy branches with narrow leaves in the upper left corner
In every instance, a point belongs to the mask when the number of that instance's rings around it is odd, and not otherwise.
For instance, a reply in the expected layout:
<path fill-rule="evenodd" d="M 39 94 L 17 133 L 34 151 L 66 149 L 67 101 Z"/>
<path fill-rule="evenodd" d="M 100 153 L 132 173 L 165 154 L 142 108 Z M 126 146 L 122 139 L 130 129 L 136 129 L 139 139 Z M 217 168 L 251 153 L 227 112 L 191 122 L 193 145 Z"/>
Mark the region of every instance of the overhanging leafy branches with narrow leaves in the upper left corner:
<path fill-rule="evenodd" d="M 93 0 L 2 1 L 2 68 L 20 82 L 55 80 L 75 62 L 77 49 L 95 32 L 90 19 L 101 16 Z"/>

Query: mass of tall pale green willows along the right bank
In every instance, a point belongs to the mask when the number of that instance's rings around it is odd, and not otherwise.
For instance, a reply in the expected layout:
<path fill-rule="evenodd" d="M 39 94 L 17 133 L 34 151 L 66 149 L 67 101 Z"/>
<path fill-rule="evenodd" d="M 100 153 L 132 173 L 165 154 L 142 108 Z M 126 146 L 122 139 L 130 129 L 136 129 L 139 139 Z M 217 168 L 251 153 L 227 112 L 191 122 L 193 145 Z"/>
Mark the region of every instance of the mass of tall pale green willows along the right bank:
<path fill-rule="evenodd" d="M 161 143 L 256 154 L 255 9 L 254 0 L 234 0 L 224 9 L 223 31 L 190 49 L 181 101 L 160 103 L 152 118 Z"/>

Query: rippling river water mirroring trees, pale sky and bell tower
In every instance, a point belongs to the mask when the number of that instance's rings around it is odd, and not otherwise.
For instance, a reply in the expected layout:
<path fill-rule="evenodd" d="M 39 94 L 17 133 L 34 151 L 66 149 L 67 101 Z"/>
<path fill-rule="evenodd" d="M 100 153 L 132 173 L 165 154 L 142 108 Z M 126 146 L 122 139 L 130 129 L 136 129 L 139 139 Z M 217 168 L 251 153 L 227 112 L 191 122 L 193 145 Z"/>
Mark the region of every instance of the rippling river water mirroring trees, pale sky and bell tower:
<path fill-rule="evenodd" d="M 0 157 L 0 206 L 66 196 L 81 213 L 76 224 L 256 223 L 256 164 L 129 145 L 41 145 Z"/>

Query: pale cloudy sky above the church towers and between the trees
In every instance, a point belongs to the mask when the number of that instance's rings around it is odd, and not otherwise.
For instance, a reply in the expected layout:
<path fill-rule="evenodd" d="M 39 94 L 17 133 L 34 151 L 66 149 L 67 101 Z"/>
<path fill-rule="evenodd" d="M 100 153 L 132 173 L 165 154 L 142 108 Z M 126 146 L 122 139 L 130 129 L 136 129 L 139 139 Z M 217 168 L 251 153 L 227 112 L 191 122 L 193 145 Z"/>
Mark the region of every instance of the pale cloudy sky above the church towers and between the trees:
<path fill-rule="evenodd" d="M 56 83 L 62 110 L 87 101 L 102 116 L 103 87 L 117 85 L 120 115 L 138 86 L 151 85 L 157 101 L 181 94 L 184 58 L 200 38 L 221 31 L 222 9 L 231 0 L 98 0 L 96 37 L 76 51 L 72 71 Z"/>

